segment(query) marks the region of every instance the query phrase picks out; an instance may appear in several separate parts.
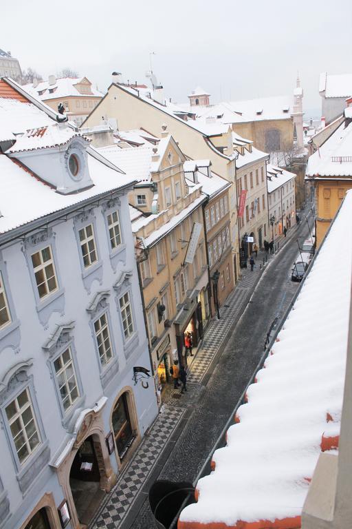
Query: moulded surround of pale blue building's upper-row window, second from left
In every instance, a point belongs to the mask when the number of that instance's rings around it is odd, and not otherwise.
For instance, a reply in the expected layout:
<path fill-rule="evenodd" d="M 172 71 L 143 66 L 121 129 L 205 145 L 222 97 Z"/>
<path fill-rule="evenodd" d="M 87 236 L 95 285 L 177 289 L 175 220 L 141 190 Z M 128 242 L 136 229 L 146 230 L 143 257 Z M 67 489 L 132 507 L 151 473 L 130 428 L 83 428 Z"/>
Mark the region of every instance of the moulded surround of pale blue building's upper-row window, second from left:
<path fill-rule="evenodd" d="M 34 269 L 32 266 L 32 254 L 49 245 L 52 248 L 52 257 L 55 264 L 58 289 L 52 294 L 45 296 L 45 298 L 41 300 L 41 298 L 39 298 L 39 292 L 36 286 L 36 278 L 34 276 Z M 41 324 L 45 326 L 53 312 L 60 312 L 62 315 L 65 309 L 65 289 L 61 287 L 63 282 L 61 281 L 60 269 L 58 267 L 58 255 L 56 252 L 55 234 L 53 229 L 50 227 L 45 227 L 26 237 L 23 242 L 22 251 L 24 253 L 25 262 L 27 263 L 28 271 L 30 273 L 34 299 L 36 301 L 36 311 Z"/>

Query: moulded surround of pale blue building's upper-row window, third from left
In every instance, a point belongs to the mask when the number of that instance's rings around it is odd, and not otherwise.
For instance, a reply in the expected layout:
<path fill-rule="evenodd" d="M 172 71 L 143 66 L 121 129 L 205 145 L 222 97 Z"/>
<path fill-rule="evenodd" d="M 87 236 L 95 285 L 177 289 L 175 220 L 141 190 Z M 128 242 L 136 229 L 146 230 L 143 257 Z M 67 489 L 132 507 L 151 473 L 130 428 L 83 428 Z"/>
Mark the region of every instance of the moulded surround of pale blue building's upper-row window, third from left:
<path fill-rule="evenodd" d="M 85 268 L 83 264 L 82 250 L 80 247 L 80 237 L 78 231 L 87 225 L 93 225 L 94 229 L 94 242 L 96 244 L 96 252 L 98 254 L 98 261 L 92 264 L 89 268 Z M 85 289 L 90 291 L 91 283 L 96 279 L 102 284 L 102 258 L 99 247 L 99 240 L 97 237 L 98 230 L 96 229 L 96 216 L 94 215 L 94 207 L 81 211 L 74 217 L 74 234 L 76 236 L 78 258 L 80 260 L 80 268 L 82 270 L 82 279 L 85 285 Z"/>

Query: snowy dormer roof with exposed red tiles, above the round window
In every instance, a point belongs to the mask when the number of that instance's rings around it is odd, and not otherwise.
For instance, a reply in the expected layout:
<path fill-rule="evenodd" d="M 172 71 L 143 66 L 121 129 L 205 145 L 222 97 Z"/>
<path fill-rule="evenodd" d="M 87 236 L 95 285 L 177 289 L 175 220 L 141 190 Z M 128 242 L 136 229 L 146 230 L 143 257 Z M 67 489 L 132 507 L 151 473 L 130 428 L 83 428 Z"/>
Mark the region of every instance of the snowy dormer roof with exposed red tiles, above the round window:
<path fill-rule="evenodd" d="M 76 136 L 82 137 L 71 127 L 67 127 L 66 123 L 53 123 L 52 125 L 45 125 L 45 127 L 35 127 L 26 131 L 23 136 L 17 136 L 16 143 L 6 153 L 13 154 L 15 152 L 33 151 L 47 147 L 58 147 L 59 145 L 65 145 Z"/>

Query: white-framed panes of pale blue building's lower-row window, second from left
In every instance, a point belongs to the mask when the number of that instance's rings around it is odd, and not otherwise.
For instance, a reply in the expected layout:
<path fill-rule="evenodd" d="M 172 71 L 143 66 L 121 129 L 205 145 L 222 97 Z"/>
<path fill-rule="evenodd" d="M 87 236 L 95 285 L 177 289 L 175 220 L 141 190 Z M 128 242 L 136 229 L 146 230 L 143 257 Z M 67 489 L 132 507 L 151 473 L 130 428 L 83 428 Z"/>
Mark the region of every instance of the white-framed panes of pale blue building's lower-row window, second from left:
<path fill-rule="evenodd" d="M 66 412 L 73 406 L 80 395 L 74 362 L 69 347 L 54 361 L 54 370 L 61 404 Z"/>

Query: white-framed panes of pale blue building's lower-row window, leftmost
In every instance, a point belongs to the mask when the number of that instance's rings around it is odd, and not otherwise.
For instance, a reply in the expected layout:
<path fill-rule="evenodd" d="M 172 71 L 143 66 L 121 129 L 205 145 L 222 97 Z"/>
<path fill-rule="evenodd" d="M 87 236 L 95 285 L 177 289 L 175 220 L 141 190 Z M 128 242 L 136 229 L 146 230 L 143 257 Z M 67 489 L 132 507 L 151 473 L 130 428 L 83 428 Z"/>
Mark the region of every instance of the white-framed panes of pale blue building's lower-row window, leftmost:
<path fill-rule="evenodd" d="M 23 464 L 25 460 L 41 444 L 41 435 L 32 406 L 30 391 L 25 388 L 21 393 L 5 408 L 6 417 L 14 446 L 16 448 L 19 462 Z"/>

